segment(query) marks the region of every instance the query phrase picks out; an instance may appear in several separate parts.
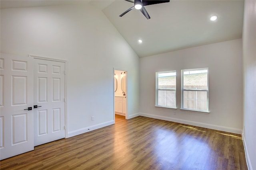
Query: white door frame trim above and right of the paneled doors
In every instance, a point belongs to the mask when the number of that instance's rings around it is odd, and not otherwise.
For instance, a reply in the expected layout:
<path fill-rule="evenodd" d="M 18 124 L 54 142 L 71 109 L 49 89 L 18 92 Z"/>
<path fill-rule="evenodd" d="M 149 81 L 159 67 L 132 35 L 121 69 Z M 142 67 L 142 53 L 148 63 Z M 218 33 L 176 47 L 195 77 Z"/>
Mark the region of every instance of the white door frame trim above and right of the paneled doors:
<path fill-rule="evenodd" d="M 68 61 L 62 60 L 62 59 L 54 59 L 49 57 L 42 57 L 42 56 L 36 56 L 36 55 L 28 55 L 28 57 L 32 57 L 33 59 L 40 59 L 40 60 L 48 60 L 48 61 L 57 61 L 65 63 L 65 138 L 68 137 L 68 123 L 67 123 L 67 69 L 68 69 Z"/>

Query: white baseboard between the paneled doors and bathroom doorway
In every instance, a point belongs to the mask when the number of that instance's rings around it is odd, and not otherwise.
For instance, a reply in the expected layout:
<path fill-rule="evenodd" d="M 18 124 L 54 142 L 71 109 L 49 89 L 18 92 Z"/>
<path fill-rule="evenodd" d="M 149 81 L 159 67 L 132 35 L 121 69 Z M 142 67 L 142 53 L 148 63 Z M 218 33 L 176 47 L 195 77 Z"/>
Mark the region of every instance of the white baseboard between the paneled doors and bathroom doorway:
<path fill-rule="evenodd" d="M 85 127 L 85 128 L 82 128 L 82 129 L 78 129 L 76 131 L 71 131 L 71 132 L 68 132 L 67 138 L 73 137 L 73 136 L 76 136 L 76 135 L 80 135 L 82 133 L 86 133 L 86 132 L 89 132 L 89 131 L 93 131 L 95 129 L 99 129 L 99 128 L 102 128 L 102 127 L 105 127 L 105 126 L 108 126 L 108 125 L 112 125 L 114 123 L 115 123 L 114 120 L 111 120 L 111 121 L 107 121 L 107 122 L 104 122 L 104 123 L 100 123 L 98 125 L 93 125 L 93 126 Z"/>

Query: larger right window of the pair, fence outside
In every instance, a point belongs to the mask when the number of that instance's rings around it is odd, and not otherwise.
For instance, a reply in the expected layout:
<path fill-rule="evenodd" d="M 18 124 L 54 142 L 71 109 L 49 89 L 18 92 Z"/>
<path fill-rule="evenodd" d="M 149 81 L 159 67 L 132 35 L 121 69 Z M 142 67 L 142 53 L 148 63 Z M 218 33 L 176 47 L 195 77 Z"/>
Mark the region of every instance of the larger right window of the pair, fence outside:
<path fill-rule="evenodd" d="M 209 111 L 208 68 L 181 70 L 181 109 Z"/>

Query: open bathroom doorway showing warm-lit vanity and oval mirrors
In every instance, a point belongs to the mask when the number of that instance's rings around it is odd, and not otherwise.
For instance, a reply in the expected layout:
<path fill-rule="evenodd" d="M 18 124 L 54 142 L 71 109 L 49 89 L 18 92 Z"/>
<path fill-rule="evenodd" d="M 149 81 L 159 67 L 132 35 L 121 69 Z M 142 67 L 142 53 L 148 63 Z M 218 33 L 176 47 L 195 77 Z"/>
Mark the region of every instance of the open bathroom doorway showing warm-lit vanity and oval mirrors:
<path fill-rule="evenodd" d="M 114 117 L 121 115 L 125 119 L 127 114 L 127 71 L 114 69 Z"/>

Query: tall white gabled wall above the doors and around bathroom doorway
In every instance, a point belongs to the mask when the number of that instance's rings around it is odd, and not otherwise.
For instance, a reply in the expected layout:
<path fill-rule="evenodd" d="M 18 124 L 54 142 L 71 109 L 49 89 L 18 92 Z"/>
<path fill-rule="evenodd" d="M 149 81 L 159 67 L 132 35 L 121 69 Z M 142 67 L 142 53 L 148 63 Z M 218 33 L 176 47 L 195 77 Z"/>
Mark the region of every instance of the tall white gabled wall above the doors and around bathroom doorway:
<path fill-rule="evenodd" d="M 0 21 L 2 53 L 68 60 L 69 137 L 114 123 L 114 67 L 128 70 L 128 115 L 138 113 L 139 58 L 100 10 L 1 9 Z"/>

